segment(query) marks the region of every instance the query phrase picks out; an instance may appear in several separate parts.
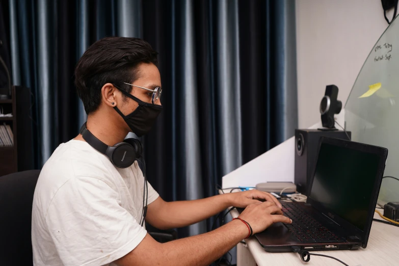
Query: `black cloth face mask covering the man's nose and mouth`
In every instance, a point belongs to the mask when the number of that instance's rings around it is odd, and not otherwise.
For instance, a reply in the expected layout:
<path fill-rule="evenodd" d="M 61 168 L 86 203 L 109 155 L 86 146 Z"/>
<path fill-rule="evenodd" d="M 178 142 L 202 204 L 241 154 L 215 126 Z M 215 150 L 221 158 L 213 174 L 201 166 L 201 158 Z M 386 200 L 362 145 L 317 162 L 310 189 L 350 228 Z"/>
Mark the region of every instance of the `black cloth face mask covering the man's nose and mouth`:
<path fill-rule="evenodd" d="M 147 134 L 148 131 L 150 131 L 159 113 L 161 113 L 162 105 L 144 102 L 139 98 L 131 95 L 130 93 L 125 92 L 124 90 L 120 91 L 130 99 L 137 101 L 137 103 L 139 103 L 139 106 L 135 111 L 128 114 L 127 116 L 123 115 L 117 107 L 114 107 L 114 109 L 123 117 L 126 124 L 130 127 L 131 131 L 134 134 L 136 134 L 138 137 Z"/>

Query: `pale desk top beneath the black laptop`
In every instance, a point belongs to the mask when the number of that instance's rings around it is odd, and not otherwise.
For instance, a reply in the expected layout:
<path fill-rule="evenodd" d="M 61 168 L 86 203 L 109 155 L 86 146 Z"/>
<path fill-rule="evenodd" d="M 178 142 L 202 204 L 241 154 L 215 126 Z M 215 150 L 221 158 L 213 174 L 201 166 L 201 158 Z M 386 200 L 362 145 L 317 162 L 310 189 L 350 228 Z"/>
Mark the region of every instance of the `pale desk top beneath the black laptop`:
<path fill-rule="evenodd" d="M 238 217 L 237 210 L 230 211 L 233 218 Z M 380 218 L 375 213 L 374 218 Z M 326 257 L 310 256 L 310 261 L 303 262 L 298 253 L 266 252 L 254 236 L 245 240 L 248 247 L 237 245 L 237 266 L 270 266 L 270 265 L 343 265 Z M 373 221 L 367 247 L 358 250 L 311 251 L 336 257 L 350 266 L 366 265 L 399 265 L 399 227 Z"/>

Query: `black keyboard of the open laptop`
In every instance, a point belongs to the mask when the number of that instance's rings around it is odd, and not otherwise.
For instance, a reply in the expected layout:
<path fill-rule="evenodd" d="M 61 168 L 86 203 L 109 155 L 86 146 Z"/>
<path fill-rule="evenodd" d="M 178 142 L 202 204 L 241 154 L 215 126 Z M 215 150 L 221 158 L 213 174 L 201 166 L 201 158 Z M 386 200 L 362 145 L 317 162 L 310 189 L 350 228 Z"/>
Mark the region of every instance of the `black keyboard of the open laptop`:
<path fill-rule="evenodd" d="M 292 236 L 302 243 L 339 243 L 346 242 L 332 231 L 322 226 L 306 214 L 298 204 L 281 202 L 283 215 L 292 220 L 291 224 L 284 224 Z"/>

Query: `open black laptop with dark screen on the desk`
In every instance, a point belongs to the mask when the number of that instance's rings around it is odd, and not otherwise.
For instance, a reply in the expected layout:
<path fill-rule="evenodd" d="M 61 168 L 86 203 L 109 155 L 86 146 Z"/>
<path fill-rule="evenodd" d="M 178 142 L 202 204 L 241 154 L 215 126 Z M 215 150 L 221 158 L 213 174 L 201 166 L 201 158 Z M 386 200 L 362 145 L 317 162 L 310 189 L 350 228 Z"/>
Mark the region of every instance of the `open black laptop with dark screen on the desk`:
<path fill-rule="evenodd" d="M 317 154 L 306 202 L 280 201 L 292 224 L 255 234 L 265 251 L 366 248 L 388 150 L 322 137 Z"/>

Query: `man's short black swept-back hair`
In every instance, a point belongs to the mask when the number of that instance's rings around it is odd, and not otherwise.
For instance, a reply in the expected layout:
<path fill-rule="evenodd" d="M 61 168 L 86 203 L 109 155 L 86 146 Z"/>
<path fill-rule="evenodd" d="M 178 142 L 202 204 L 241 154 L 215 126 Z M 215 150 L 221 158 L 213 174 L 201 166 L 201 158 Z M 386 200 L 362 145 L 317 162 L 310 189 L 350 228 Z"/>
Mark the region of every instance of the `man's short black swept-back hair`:
<path fill-rule="evenodd" d="M 157 52 L 138 38 L 105 37 L 92 44 L 77 62 L 75 86 L 87 114 L 96 111 L 101 103 L 101 88 L 112 83 L 130 93 L 139 78 L 138 65 L 157 65 Z"/>

